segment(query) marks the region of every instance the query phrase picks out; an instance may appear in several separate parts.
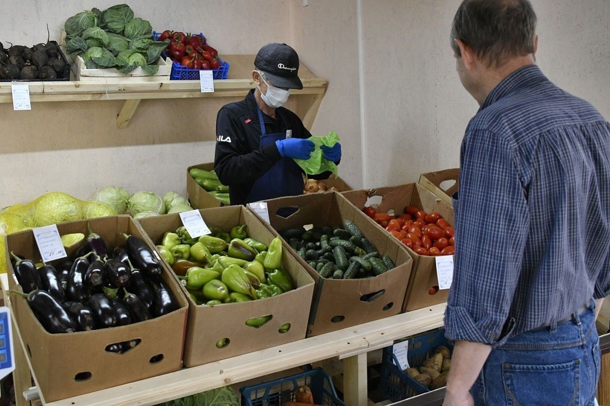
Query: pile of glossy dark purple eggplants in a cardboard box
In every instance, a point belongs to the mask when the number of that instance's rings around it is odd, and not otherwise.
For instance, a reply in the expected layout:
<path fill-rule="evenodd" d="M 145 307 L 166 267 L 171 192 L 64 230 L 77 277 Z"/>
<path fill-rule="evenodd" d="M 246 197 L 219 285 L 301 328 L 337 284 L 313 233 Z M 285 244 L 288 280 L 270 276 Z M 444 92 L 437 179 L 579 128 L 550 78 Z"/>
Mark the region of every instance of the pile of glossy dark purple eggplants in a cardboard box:
<path fill-rule="evenodd" d="M 37 264 L 11 252 L 13 270 L 30 308 L 51 334 L 145 321 L 178 309 L 162 267 L 142 239 L 127 236 L 112 253 L 91 230 L 73 259 Z"/>

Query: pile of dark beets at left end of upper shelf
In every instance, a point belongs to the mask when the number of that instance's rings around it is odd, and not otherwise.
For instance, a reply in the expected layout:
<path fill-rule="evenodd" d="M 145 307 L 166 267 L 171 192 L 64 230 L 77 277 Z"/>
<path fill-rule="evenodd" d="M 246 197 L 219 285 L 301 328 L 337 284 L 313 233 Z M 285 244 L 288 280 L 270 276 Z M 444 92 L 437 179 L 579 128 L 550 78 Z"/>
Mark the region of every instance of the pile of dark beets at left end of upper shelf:
<path fill-rule="evenodd" d="M 10 44 L 8 48 L 0 43 L 2 80 L 63 79 L 66 65 L 56 41 L 32 47 Z"/>

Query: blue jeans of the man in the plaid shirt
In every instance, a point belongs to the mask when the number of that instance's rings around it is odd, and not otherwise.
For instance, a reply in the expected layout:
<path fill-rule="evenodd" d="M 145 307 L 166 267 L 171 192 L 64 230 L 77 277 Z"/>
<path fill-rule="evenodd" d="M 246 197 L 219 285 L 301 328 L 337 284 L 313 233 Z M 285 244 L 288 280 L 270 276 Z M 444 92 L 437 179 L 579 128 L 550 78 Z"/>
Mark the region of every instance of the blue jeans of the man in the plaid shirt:
<path fill-rule="evenodd" d="M 600 377 L 595 302 L 572 321 L 509 338 L 472 387 L 475 405 L 592 406 Z"/>

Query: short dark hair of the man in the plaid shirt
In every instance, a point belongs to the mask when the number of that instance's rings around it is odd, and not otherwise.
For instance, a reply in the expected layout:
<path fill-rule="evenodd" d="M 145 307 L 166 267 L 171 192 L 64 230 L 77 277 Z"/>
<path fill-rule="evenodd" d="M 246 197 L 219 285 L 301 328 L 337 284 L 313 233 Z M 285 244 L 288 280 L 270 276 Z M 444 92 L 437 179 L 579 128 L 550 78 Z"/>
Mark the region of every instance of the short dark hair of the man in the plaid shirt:
<path fill-rule="evenodd" d="M 464 0 L 451 28 L 451 47 L 461 57 L 456 39 L 487 66 L 497 68 L 534 53 L 536 13 L 529 0 Z"/>

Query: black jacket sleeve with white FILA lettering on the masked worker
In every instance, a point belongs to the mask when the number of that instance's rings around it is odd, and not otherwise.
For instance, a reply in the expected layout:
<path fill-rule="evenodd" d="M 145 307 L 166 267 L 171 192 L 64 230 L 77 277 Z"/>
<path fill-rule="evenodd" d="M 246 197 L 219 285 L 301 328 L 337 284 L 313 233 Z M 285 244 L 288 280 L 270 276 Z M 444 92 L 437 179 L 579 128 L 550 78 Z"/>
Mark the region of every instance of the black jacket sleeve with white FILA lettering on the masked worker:
<path fill-rule="evenodd" d="M 274 142 L 249 151 L 243 128 L 240 128 L 231 111 L 226 108 L 218 111 L 214 169 L 221 183 L 227 186 L 252 183 L 280 158 Z"/>

